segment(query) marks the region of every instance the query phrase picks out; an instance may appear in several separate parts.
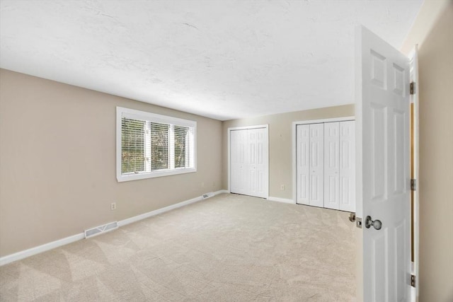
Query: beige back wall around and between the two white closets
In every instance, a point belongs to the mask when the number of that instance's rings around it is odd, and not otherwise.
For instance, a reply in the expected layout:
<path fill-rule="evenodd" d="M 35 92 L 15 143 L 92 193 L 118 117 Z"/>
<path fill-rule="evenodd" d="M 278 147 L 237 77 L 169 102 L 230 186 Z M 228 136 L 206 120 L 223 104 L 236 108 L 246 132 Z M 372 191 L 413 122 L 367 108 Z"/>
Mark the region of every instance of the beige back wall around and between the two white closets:
<path fill-rule="evenodd" d="M 269 196 L 293 199 L 292 122 L 354 115 L 354 105 L 343 105 L 224 122 L 224 153 L 222 156 L 224 189 L 228 189 L 228 128 L 259 124 L 269 125 Z M 280 185 L 285 185 L 285 190 L 280 190 Z"/>

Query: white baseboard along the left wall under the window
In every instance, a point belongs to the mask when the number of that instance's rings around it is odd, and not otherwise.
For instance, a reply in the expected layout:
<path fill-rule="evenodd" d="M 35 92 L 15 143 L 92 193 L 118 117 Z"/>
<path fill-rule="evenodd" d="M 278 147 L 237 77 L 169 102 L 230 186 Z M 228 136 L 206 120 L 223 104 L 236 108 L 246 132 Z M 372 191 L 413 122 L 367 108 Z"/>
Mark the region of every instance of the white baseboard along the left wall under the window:
<path fill-rule="evenodd" d="M 227 190 L 219 190 L 217 192 L 214 192 L 214 196 L 218 194 L 223 194 L 223 193 L 229 193 Z M 185 200 L 184 202 L 178 202 L 178 204 L 172 204 L 171 206 L 164 207 L 161 209 L 156 209 L 154 211 L 149 211 L 148 213 L 140 214 L 128 219 L 124 219 L 122 221 L 118 221 L 118 226 L 125 226 L 129 223 L 133 223 L 136 221 L 140 221 L 142 219 L 147 219 L 148 217 L 157 215 L 157 214 L 162 214 L 166 211 L 171 211 L 172 209 L 177 209 L 180 207 L 184 207 L 188 204 L 193 204 L 194 202 L 200 202 L 200 200 L 203 200 L 202 197 L 195 197 L 193 199 Z M 2 265 L 7 265 L 8 263 L 11 263 L 13 261 L 21 260 L 26 257 L 30 257 L 36 254 L 39 254 L 41 252 L 46 252 L 47 250 L 53 250 L 54 248 L 59 248 L 62 245 L 67 245 L 69 243 L 76 242 L 78 240 L 82 240 L 85 238 L 85 233 L 79 233 L 73 236 L 69 236 L 67 238 L 62 238 L 59 240 L 52 241 L 50 243 L 45 243 L 43 245 L 38 245 L 35 248 L 29 248 L 28 250 L 21 250 L 20 252 L 15 252 L 11 255 L 6 255 L 4 257 L 0 257 L 0 266 Z"/>

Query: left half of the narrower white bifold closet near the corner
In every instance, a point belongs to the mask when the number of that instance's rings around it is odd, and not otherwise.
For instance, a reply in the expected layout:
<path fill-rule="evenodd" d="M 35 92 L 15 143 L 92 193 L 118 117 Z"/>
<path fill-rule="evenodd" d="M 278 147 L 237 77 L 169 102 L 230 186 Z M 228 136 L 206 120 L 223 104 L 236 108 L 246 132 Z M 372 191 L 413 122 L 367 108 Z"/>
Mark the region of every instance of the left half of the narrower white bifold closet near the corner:
<path fill-rule="evenodd" d="M 247 132 L 246 130 L 234 130 L 230 133 L 230 156 L 231 156 L 231 183 L 232 193 L 247 194 L 246 180 L 248 178 L 247 158 Z"/>

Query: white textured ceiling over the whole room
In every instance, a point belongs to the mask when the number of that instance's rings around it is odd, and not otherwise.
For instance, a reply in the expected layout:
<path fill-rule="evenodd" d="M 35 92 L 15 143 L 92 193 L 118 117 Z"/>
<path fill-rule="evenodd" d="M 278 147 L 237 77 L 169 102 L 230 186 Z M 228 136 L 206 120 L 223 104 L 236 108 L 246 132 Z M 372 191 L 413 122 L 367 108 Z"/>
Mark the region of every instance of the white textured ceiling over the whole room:
<path fill-rule="evenodd" d="M 0 66 L 217 120 L 354 101 L 354 30 L 423 0 L 4 1 Z"/>

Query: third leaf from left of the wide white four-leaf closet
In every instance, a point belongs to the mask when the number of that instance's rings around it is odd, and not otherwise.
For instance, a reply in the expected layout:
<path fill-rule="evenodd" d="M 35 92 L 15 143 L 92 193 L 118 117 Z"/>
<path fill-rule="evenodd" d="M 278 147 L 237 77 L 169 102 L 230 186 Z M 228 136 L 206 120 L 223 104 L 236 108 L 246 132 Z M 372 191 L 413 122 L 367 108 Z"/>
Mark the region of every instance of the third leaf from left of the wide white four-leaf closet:
<path fill-rule="evenodd" d="M 324 124 L 324 207 L 329 209 L 339 209 L 339 124 Z"/>

